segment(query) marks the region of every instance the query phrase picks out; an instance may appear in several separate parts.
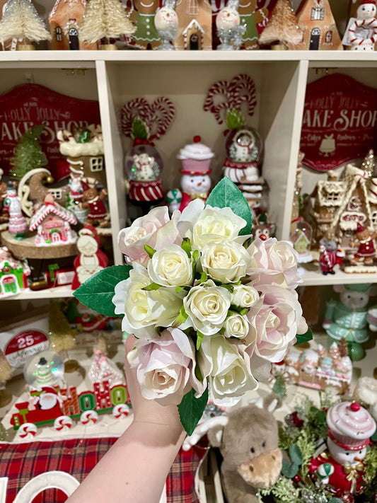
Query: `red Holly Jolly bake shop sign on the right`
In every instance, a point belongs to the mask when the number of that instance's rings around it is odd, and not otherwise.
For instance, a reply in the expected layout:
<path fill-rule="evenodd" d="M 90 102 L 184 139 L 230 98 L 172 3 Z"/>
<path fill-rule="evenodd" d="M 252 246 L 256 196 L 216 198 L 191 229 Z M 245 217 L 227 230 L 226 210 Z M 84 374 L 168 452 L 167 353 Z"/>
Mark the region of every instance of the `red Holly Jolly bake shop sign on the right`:
<path fill-rule="evenodd" d="M 306 88 L 301 151 L 318 171 L 336 169 L 377 151 L 377 89 L 343 74 L 323 77 Z"/>

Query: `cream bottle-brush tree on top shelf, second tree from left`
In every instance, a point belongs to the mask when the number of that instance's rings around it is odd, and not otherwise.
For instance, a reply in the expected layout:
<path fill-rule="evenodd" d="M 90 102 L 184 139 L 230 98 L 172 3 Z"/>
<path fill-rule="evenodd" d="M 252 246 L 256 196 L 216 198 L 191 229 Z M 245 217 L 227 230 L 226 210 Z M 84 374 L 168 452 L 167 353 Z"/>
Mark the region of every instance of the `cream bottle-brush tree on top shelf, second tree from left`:
<path fill-rule="evenodd" d="M 134 33 L 134 25 L 129 20 L 120 0 L 91 0 L 86 4 L 79 35 L 87 42 L 101 41 L 101 49 L 117 49 L 110 44 L 110 38 Z"/>

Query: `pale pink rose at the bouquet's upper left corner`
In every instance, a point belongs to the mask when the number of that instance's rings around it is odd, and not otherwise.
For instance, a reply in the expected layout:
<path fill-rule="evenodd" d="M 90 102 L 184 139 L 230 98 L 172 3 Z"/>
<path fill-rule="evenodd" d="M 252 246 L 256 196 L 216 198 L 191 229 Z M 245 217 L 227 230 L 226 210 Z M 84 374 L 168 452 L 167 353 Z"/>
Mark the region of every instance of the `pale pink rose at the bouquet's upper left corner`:
<path fill-rule="evenodd" d="M 182 238 L 178 233 L 177 222 L 180 212 L 174 212 L 171 219 L 167 206 L 153 208 L 132 222 L 130 227 L 122 229 L 118 234 L 120 251 L 129 259 L 147 265 L 149 255 L 144 250 L 144 245 L 149 245 L 154 250 L 161 250 L 166 245 L 180 244 Z"/>

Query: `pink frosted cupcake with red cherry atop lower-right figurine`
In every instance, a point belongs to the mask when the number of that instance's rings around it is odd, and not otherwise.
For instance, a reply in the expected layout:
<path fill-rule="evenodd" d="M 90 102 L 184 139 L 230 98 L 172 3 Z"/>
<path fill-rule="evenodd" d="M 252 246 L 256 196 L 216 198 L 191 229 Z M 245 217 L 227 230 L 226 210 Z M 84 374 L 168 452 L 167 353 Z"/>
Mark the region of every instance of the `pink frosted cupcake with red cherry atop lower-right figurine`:
<path fill-rule="evenodd" d="M 349 451 L 363 449 L 376 431 L 376 422 L 356 402 L 341 402 L 327 411 L 327 432 L 338 446 Z"/>

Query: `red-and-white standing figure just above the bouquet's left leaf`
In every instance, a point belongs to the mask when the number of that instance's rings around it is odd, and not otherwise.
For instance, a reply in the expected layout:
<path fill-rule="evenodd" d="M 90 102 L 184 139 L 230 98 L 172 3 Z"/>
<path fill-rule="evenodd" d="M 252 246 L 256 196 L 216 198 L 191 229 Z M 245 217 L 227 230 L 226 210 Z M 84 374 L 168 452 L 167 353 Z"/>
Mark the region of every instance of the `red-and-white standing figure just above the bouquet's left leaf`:
<path fill-rule="evenodd" d="M 97 231 L 91 225 L 86 225 L 79 231 L 77 240 L 79 255 L 74 260 L 75 274 L 72 281 L 72 289 L 79 286 L 108 265 L 108 257 L 100 250 L 100 238 Z"/>

